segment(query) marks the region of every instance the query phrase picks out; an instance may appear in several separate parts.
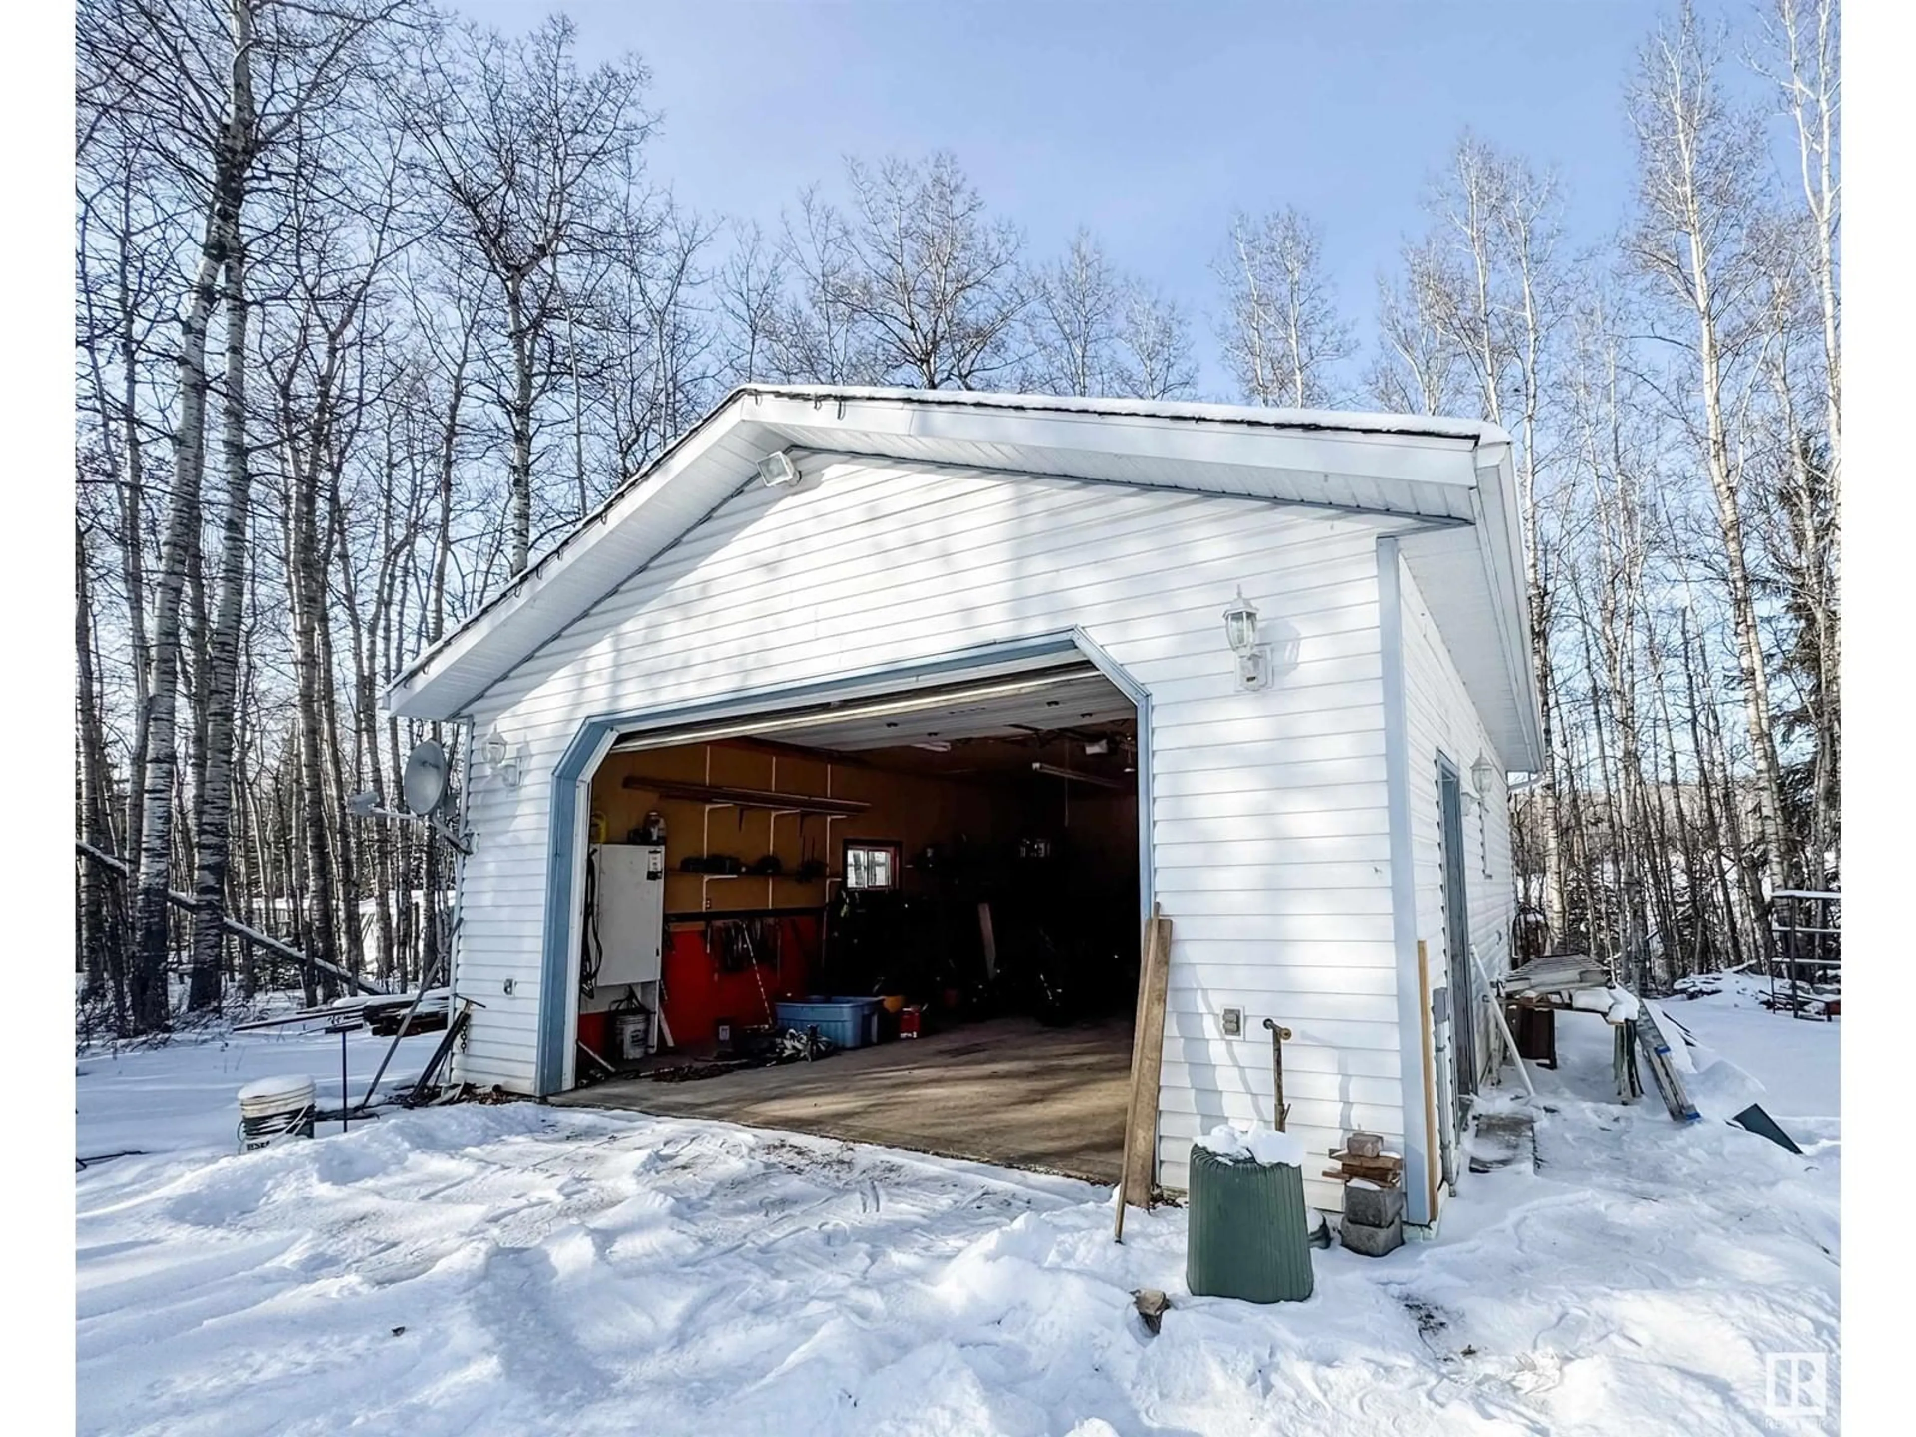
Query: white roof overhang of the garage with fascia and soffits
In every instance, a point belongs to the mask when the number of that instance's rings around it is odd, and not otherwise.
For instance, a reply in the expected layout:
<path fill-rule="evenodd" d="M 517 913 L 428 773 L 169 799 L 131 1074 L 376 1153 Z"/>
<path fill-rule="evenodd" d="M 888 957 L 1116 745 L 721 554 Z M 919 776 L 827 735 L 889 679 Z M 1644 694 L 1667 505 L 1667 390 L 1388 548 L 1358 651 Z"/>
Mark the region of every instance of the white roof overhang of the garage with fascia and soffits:
<path fill-rule="evenodd" d="M 757 483 L 778 448 L 1380 515 L 1512 768 L 1540 747 L 1510 437 L 1491 423 L 969 391 L 743 385 L 627 481 L 387 692 L 450 718 L 665 548 Z"/>

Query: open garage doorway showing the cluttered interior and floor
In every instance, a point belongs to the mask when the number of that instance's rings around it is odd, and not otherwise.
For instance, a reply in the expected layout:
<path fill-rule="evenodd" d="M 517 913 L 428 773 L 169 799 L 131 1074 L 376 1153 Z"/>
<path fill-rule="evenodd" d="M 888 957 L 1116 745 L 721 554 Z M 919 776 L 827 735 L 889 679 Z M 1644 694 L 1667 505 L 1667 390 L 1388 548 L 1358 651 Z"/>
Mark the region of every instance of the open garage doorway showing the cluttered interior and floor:
<path fill-rule="evenodd" d="M 1138 715 L 1088 663 L 621 736 L 571 1090 L 1117 1180 Z"/>

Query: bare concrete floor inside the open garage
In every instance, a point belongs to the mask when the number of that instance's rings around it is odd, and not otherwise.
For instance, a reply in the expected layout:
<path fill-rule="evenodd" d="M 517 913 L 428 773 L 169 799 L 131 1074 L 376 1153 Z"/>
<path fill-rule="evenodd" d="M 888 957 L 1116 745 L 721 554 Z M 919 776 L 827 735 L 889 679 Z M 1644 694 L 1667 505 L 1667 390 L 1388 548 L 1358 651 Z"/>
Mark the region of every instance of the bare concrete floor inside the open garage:
<path fill-rule="evenodd" d="M 1129 1021 L 1050 1029 L 998 1017 L 816 1063 L 696 1083 L 621 1079 L 552 1102 L 715 1117 L 1115 1184 L 1129 1090 Z"/>

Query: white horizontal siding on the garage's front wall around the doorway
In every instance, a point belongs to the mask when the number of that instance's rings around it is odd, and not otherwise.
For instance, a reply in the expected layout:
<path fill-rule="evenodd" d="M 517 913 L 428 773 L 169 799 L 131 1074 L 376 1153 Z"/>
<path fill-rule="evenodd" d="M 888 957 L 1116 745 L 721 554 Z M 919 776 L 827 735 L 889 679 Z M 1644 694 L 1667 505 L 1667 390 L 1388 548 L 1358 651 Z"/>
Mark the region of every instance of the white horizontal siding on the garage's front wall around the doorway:
<path fill-rule="evenodd" d="M 533 1084 L 550 772 L 588 717 L 1075 625 L 1152 694 L 1173 920 L 1161 1180 L 1184 1184 L 1215 1123 L 1270 1119 L 1266 1015 L 1293 1031 L 1291 1127 L 1318 1155 L 1349 1127 L 1399 1134 L 1376 535 L 1251 500 L 858 462 L 743 487 L 473 705 L 475 732 L 525 745 L 527 780 L 473 784 L 458 987 L 487 1008 L 460 1077 Z M 1224 644 L 1238 584 L 1266 634 L 1297 638 L 1259 694 Z M 1220 1037 L 1224 1006 L 1245 1008 L 1243 1038 Z M 1332 1184 L 1311 1194 L 1335 1203 Z"/>

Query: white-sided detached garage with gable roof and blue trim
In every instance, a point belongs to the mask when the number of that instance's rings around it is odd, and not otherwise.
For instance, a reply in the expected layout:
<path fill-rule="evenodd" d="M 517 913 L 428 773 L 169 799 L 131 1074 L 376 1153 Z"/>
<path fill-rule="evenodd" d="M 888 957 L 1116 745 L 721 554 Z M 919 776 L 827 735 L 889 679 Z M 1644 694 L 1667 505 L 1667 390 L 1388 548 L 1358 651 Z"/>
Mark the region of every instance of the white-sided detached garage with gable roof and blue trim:
<path fill-rule="evenodd" d="M 1508 966 L 1506 776 L 1539 764 L 1519 554 L 1512 445 L 1485 423 L 740 389 L 389 694 L 464 724 L 454 987 L 483 1008 L 456 1077 L 554 1096 L 590 1075 L 588 855 L 640 809 L 665 824 L 686 1050 L 707 991 L 851 973 L 832 945 L 878 922 L 868 887 L 918 914 L 887 929 L 916 935 L 895 971 L 937 947 L 920 987 L 962 1008 L 950 904 L 973 881 L 1029 899 L 1050 870 L 983 855 L 1046 858 L 1042 830 L 1077 856 L 1038 891 L 1077 895 L 1086 927 L 1113 916 L 1100 893 L 1125 895 L 1132 947 L 1153 901 L 1173 920 L 1159 1180 L 1184 1186 L 1215 1123 L 1270 1121 L 1274 1017 L 1291 1130 L 1312 1153 L 1383 1132 L 1427 1222 L 1493 1044 L 1464 947 Z M 1226 609 L 1255 613 L 1247 659 Z M 715 872 L 722 843 L 740 874 Z M 789 943 L 795 971 L 720 962 L 718 920 L 761 924 L 734 947 Z M 1033 922 L 1052 947 L 1073 927 L 1056 904 Z M 1136 954 L 1083 962 L 1125 1010 Z M 1017 1106 L 1017 1063 L 998 1081 Z"/>

